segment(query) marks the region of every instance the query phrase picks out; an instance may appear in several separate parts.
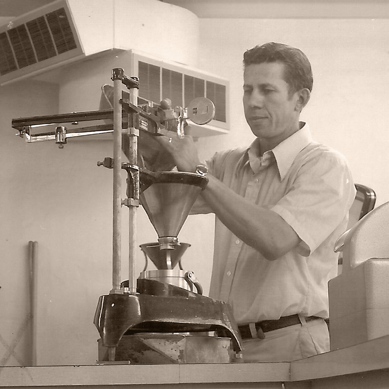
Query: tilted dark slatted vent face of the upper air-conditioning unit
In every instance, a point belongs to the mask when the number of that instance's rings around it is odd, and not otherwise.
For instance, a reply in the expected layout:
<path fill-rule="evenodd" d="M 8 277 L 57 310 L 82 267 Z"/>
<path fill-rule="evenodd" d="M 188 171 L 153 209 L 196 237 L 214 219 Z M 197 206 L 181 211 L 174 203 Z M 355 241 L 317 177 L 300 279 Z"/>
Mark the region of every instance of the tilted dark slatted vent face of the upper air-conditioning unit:
<path fill-rule="evenodd" d="M 84 56 L 65 0 L 0 27 L 0 84 Z"/>

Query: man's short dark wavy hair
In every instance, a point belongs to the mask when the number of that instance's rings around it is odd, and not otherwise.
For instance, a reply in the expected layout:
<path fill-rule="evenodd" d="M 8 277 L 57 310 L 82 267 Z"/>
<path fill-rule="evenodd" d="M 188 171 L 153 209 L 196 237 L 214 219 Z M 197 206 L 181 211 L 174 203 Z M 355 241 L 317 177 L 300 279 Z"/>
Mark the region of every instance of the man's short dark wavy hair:
<path fill-rule="evenodd" d="M 243 54 L 244 69 L 248 65 L 277 61 L 285 65 L 283 76 L 289 85 L 289 94 L 293 94 L 302 88 L 312 91 L 311 64 L 301 50 L 283 43 L 269 42 L 264 45 L 257 45 Z"/>

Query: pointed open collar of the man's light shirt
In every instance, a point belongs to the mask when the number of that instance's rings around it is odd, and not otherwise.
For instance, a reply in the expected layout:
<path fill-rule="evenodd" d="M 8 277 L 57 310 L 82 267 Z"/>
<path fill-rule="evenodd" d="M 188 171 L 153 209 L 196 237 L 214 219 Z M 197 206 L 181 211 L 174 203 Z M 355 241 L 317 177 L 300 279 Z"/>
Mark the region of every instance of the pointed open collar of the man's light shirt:
<path fill-rule="evenodd" d="M 308 124 L 300 123 L 302 125 L 300 130 L 286 138 L 272 150 L 266 151 L 262 158 L 259 157 L 259 140 L 258 138 L 255 139 L 242 156 L 241 166 L 249 164 L 253 172 L 258 173 L 261 167 L 268 166 L 275 159 L 280 178 L 283 180 L 300 151 L 312 142 Z"/>

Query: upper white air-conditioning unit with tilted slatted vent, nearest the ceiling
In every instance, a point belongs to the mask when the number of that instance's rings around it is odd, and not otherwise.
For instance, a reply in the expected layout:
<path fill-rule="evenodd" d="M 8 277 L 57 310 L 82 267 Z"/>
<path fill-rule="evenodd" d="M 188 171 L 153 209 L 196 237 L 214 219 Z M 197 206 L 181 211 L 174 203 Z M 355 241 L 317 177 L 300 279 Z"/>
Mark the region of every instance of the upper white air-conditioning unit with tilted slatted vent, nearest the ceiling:
<path fill-rule="evenodd" d="M 162 31 L 175 37 L 174 45 L 163 44 Z M 0 26 L 0 85 L 113 49 L 193 65 L 197 43 L 198 18 L 172 4 L 55 0 Z"/>

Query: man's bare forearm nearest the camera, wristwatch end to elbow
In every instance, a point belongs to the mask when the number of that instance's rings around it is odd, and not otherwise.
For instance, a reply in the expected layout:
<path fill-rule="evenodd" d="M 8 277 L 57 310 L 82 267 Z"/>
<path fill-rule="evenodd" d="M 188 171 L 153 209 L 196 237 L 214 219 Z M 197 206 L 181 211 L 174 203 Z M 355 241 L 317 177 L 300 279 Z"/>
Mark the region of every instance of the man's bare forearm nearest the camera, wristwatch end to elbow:
<path fill-rule="evenodd" d="M 275 260 L 300 243 L 296 232 L 276 212 L 237 195 L 209 175 L 201 196 L 220 221 L 268 260 Z"/>

